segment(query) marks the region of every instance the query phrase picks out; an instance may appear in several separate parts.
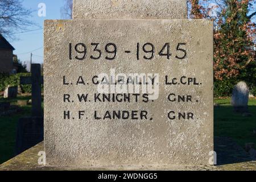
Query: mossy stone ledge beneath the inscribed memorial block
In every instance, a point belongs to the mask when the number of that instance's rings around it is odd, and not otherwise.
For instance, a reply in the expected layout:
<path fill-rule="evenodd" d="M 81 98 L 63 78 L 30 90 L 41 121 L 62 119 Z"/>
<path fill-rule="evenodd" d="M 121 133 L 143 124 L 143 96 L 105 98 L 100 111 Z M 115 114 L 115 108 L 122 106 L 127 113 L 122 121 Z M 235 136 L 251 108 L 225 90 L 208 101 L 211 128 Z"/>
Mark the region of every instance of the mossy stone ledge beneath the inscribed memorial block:
<path fill-rule="evenodd" d="M 218 140 L 218 139 L 217 139 Z M 222 139 L 221 139 L 222 140 Z M 218 147 L 223 147 L 223 143 L 220 143 Z M 232 151 L 233 150 L 233 151 Z M 230 148 L 229 153 L 230 157 L 234 155 L 241 155 L 241 151 L 235 151 L 237 147 Z M 151 170 L 160 170 L 160 171 L 230 171 L 230 170 L 256 170 L 256 161 L 244 160 L 246 162 L 238 162 L 233 164 L 224 164 L 220 166 L 42 166 L 38 164 L 38 152 L 43 151 L 43 142 L 38 145 L 31 147 L 27 151 L 24 151 L 22 154 L 16 156 L 13 159 L 10 159 L 6 163 L 0 165 L 0 171 L 59 171 L 59 170 L 83 170 L 83 171 L 151 171 Z M 220 154 L 225 155 L 225 154 Z M 231 156 L 232 155 L 232 156 Z M 228 158 L 225 156 L 225 158 Z M 241 160 L 242 161 L 242 160 Z"/>

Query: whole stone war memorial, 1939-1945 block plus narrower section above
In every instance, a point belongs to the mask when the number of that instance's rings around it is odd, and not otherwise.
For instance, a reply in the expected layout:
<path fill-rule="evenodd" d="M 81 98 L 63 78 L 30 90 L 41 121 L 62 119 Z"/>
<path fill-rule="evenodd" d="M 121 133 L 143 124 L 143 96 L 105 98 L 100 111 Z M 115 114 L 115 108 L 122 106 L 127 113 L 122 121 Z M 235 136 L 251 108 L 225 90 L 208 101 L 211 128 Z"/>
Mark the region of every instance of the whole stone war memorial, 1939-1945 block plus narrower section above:
<path fill-rule="evenodd" d="M 86 2 L 44 22 L 47 164 L 209 164 L 213 22 L 186 1 Z"/>

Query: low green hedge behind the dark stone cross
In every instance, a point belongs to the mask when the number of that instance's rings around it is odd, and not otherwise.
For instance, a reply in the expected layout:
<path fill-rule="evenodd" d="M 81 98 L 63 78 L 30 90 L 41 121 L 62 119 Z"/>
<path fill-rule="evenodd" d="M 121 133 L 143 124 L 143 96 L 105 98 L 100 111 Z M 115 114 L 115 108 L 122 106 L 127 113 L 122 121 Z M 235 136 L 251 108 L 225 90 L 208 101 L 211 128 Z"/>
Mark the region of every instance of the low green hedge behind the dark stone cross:
<path fill-rule="evenodd" d="M 17 73 L 15 75 L 8 75 L 6 73 L 0 73 L 0 91 L 5 90 L 5 88 L 10 86 L 19 85 L 19 78 L 21 76 L 31 76 L 31 73 Z M 31 93 L 31 85 L 20 85 L 22 88 L 22 93 Z M 43 86 L 42 86 L 43 90 Z"/>

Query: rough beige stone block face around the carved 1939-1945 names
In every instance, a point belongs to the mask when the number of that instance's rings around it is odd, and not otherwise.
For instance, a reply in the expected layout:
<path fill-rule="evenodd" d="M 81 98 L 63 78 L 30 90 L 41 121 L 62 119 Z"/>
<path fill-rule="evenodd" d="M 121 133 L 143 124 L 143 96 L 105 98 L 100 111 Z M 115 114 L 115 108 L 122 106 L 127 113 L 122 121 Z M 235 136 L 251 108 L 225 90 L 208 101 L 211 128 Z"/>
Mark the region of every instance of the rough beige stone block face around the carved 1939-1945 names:
<path fill-rule="evenodd" d="M 137 60 L 137 43 L 152 43 L 155 56 Z M 69 60 L 69 43 L 87 46 L 84 60 Z M 100 43 L 97 56 L 91 43 Z M 105 45 L 115 43 L 115 60 Z M 170 43 L 170 60 L 158 53 Z M 179 43 L 187 50 L 176 51 Z M 181 48 L 181 47 L 180 47 Z M 125 53 L 125 51 L 131 51 Z M 51 165 L 171 165 L 209 164 L 213 151 L 213 23 L 209 20 L 46 20 L 44 28 L 44 139 Z M 147 54 L 148 56 L 148 54 Z M 93 102 L 97 86 L 93 76 L 117 73 L 159 73 L 159 98 L 154 102 Z M 63 85 L 63 76 L 73 85 Z M 76 85 L 82 76 L 86 85 Z M 166 85 L 168 76 L 180 85 Z M 196 78 L 197 85 L 183 85 L 181 77 Z M 170 81 L 170 80 L 169 80 Z M 188 80 L 187 80 L 188 81 Z M 71 103 L 64 102 L 64 94 Z M 89 94 L 92 102 L 79 102 L 77 94 Z M 192 102 L 170 102 L 168 94 L 192 96 Z M 72 102 L 72 100 L 74 102 Z M 64 119 L 64 111 L 71 118 Z M 94 111 L 146 110 L 148 119 L 93 119 Z M 195 118 L 167 118 L 168 112 L 192 112 Z M 81 119 L 78 111 L 85 111 Z M 177 115 L 176 115 L 177 117 Z M 152 120 L 150 119 L 152 118 Z"/>

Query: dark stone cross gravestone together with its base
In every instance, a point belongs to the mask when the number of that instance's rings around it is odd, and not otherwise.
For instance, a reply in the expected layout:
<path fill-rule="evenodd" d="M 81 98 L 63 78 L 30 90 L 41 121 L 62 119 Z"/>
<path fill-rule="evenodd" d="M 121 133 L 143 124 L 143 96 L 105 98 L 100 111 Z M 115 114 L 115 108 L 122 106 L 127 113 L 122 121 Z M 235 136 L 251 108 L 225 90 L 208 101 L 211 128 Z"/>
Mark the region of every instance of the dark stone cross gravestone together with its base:
<path fill-rule="evenodd" d="M 43 77 L 41 76 L 41 65 L 32 64 L 31 77 L 20 77 L 20 84 L 32 85 L 32 116 L 19 118 L 16 134 L 16 155 L 42 142 L 44 138 L 41 95 Z"/>

